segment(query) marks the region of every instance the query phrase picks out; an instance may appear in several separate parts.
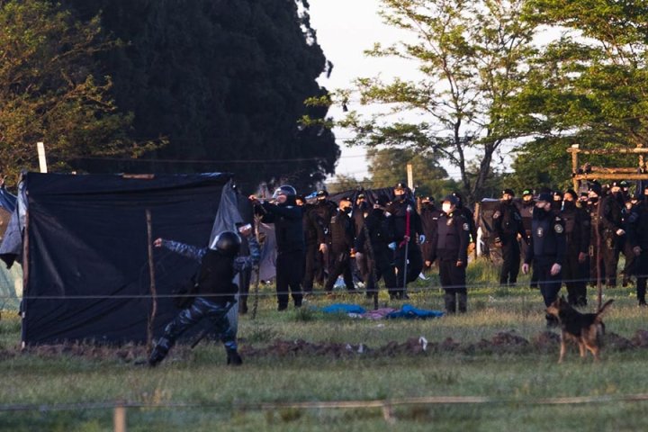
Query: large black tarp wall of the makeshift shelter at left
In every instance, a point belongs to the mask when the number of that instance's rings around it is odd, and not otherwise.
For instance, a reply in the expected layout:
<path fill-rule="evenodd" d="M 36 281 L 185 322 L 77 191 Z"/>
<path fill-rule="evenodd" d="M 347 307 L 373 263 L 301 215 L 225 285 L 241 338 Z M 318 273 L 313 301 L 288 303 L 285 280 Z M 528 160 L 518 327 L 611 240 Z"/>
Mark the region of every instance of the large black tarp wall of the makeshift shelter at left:
<path fill-rule="evenodd" d="M 145 341 L 152 304 L 146 211 L 152 238 L 206 247 L 230 176 L 25 175 L 23 341 Z M 163 248 L 154 248 L 154 258 L 159 335 L 177 313 L 164 296 L 197 263 Z"/>

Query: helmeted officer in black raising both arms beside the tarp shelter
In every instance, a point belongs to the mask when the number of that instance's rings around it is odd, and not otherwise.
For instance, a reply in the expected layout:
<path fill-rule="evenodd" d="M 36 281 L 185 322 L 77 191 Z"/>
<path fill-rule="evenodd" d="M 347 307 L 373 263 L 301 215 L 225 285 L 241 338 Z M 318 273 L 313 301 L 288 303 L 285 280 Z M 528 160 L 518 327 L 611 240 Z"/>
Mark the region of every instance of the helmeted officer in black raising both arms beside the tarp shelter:
<path fill-rule="evenodd" d="M 273 198 L 276 202 L 262 202 L 255 195 L 249 196 L 261 220 L 275 224 L 278 311 L 288 308 L 289 289 L 295 308 L 302 306 L 305 245 L 302 208 L 296 205 L 295 195 L 293 186 L 286 184 L 275 191 Z"/>

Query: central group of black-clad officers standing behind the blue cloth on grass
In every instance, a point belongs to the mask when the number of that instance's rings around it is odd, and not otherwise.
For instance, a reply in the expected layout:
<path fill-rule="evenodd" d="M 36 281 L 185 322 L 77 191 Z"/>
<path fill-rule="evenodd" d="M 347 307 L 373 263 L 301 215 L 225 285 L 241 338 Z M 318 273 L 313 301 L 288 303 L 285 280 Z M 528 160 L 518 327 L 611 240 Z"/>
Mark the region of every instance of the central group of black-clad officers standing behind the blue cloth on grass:
<path fill-rule="evenodd" d="M 438 261 L 446 311 L 465 312 L 468 248 L 476 239 L 473 213 L 459 193 L 446 196 L 441 209 L 433 198 L 423 198 L 420 213 L 411 196 L 403 183 L 394 186 L 392 201 L 375 197 L 372 204 L 365 193 L 355 202 L 343 197 L 335 203 L 324 190 L 308 203 L 290 185 L 279 187 L 273 201 L 250 195 L 261 220 L 275 224 L 278 310 L 287 309 L 288 293 L 300 307 L 316 281 L 331 293 L 340 275 L 347 291 L 356 292 L 354 266 L 367 296 L 383 279 L 391 299 L 407 299 L 406 285 Z"/>

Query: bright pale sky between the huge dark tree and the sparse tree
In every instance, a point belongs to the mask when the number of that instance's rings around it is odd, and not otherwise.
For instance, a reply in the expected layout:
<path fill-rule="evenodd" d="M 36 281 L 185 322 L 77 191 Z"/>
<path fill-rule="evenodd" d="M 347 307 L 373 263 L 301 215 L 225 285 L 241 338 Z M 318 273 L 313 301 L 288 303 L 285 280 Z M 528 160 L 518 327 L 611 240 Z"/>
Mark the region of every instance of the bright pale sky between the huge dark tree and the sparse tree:
<path fill-rule="evenodd" d="M 309 0 L 309 4 L 311 27 L 317 31 L 324 55 L 333 62 L 331 76 L 320 76 L 320 85 L 335 90 L 351 87 L 358 76 L 408 76 L 408 71 L 402 70 L 402 60 L 367 58 L 363 53 L 376 41 L 384 44 L 402 39 L 401 31 L 383 24 L 378 16 L 379 0 Z M 353 106 L 352 101 L 349 109 L 358 107 Z M 329 115 L 338 120 L 342 112 L 334 107 Z M 365 149 L 344 145 L 343 139 L 349 137 L 348 131 L 335 129 L 334 132 L 342 150 L 336 174 L 352 175 L 358 179 L 368 176 Z"/>

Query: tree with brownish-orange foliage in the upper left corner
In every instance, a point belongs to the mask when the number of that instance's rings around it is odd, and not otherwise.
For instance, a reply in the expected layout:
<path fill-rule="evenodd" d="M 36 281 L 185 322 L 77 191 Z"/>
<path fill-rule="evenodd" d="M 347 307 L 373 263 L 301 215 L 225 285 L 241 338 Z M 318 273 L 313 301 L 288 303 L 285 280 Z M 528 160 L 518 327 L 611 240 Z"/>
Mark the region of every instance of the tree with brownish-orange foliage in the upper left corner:
<path fill-rule="evenodd" d="M 94 53 L 111 49 L 97 18 L 80 23 L 44 0 L 0 1 L 0 170 L 14 180 L 38 166 L 74 169 L 84 156 L 137 156 L 130 115 L 118 112 Z"/>

